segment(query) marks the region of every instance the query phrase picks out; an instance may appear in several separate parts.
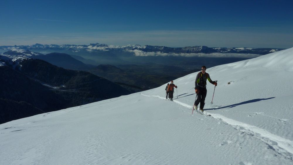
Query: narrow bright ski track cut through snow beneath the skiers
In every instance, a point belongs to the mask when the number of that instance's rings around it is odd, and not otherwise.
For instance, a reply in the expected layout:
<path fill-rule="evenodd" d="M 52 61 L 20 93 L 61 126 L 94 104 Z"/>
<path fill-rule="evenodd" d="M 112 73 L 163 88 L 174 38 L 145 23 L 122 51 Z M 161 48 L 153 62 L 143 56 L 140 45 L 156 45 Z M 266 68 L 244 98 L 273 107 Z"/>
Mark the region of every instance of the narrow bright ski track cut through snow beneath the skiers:
<path fill-rule="evenodd" d="M 148 96 L 148 95 L 145 95 L 142 93 L 140 93 L 140 94 L 142 96 L 156 97 L 156 98 L 166 100 L 166 98 L 163 98 L 161 96 Z M 182 103 L 177 100 L 173 100 L 173 102 L 188 108 L 188 110 L 192 110 L 192 108 L 193 108 L 192 106 L 185 104 L 185 103 Z M 193 115 L 191 113 L 188 113 L 188 114 L 190 116 L 193 116 L 198 113 L 194 111 Z M 211 117 L 213 117 L 223 123 L 231 125 L 236 130 L 239 130 L 241 132 L 246 132 L 248 135 L 251 135 L 251 136 L 261 140 L 262 142 L 265 142 L 266 144 L 268 144 L 270 149 L 273 149 L 274 151 L 278 152 L 279 154 L 282 154 L 283 156 L 287 157 L 288 159 L 293 160 L 293 158 L 292 158 L 293 157 L 293 142 L 291 140 L 274 135 L 274 134 L 268 132 L 267 130 L 261 129 L 259 127 L 227 118 L 223 115 L 209 113 L 209 112 L 205 112 L 205 115 L 211 115 Z M 268 117 L 271 117 L 271 116 L 268 116 Z M 203 120 L 200 118 L 197 118 L 197 119 Z M 279 118 L 277 118 L 277 119 L 279 119 Z M 279 119 L 279 120 L 282 120 L 282 119 Z M 223 143 L 226 144 L 226 142 L 223 142 Z"/>

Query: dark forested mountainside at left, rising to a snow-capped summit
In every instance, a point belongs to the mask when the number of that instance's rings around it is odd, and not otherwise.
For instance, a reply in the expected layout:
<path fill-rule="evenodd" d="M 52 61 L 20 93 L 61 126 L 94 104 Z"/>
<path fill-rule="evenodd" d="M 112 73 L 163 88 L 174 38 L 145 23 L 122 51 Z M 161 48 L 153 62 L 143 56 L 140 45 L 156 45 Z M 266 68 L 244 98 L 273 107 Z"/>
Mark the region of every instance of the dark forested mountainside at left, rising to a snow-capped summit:
<path fill-rule="evenodd" d="M 0 55 L 0 123 L 134 92 L 89 72 L 33 57 L 46 55 L 28 50 Z"/>

